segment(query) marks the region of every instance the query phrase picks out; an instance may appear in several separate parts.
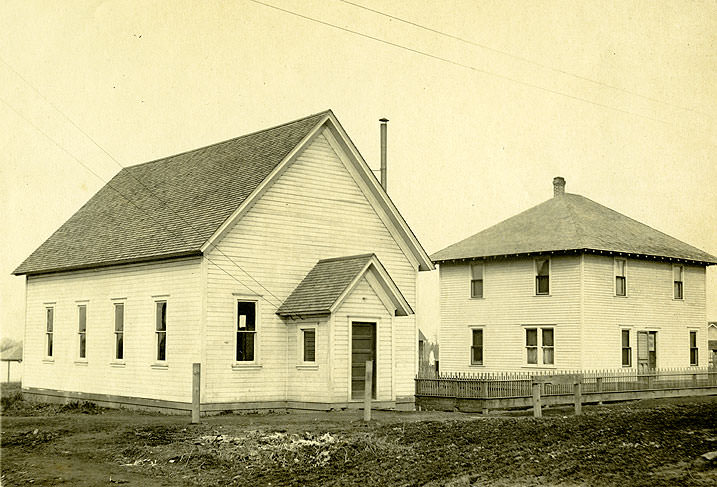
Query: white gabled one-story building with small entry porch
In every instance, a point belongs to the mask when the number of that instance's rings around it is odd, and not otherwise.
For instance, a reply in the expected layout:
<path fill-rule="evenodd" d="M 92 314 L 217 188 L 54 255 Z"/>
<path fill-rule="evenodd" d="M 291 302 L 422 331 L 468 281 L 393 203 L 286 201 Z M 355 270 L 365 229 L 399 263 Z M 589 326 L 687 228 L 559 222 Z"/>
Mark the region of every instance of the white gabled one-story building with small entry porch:
<path fill-rule="evenodd" d="M 331 111 L 120 171 L 16 270 L 27 396 L 413 408 L 428 255 Z"/>

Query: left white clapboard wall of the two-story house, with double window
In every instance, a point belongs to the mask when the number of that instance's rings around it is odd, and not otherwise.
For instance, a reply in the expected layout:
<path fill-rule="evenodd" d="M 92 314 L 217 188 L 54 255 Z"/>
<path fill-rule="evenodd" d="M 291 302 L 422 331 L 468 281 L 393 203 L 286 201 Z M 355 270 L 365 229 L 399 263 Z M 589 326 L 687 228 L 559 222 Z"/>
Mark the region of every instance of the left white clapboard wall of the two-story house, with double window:
<path fill-rule="evenodd" d="M 551 325 L 555 368 L 580 366 L 580 258 L 553 256 L 550 295 L 535 295 L 534 260 L 488 261 L 482 299 L 470 297 L 468 263 L 440 265 L 441 370 L 526 370 L 525 325 Z M 470 364 L 471 329 L 483 328 L 484 365 Z M 529 370 L 529 369 L 528 369 Z"/>

